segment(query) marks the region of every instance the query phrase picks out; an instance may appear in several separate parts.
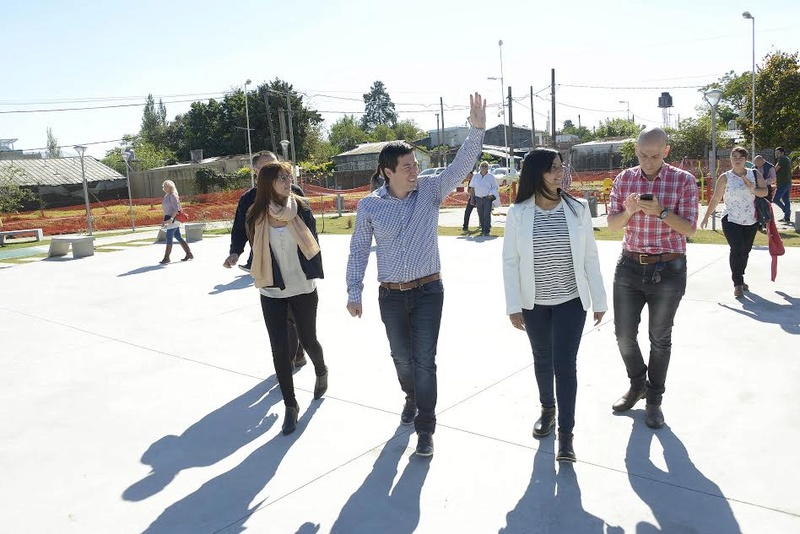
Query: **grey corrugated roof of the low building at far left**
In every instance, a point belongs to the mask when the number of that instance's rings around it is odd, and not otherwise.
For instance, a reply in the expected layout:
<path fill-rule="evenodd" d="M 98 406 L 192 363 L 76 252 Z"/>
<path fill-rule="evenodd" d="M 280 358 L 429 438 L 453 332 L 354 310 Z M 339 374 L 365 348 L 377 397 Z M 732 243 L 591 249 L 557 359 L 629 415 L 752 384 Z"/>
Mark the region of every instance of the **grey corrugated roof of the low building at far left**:
<path fill-rule="evenodd" d="M 114 169 L 91 156 L 84 156 L 87 182 L 125 179 Z M 12 170 L 19 169 L 19 170 Z M 11 178 L 17 185 L 81 184 L 81 158 L 7 159 L 0 160 L 0 179 Z"/>

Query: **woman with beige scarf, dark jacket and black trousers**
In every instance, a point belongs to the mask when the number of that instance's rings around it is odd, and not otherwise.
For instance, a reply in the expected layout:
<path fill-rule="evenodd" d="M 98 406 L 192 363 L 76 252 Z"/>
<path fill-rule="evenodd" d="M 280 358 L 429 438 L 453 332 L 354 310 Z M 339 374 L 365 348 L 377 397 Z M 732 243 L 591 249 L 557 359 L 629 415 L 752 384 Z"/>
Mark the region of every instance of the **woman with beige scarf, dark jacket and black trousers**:
<path fill-rule="evenodd" d="M 308 203 L 292 192 L 288 163 L 268 163 L 258 171 L 253 205 L 245 227 L 253 249 L 250 274 L 261 293 L 261 311 L 272 347 L 272 362 L 286 406 L 282 432 L 297 427 L 300 407 L 294 394 L 292 358 L 286 320 L 291 310 L 300 342 L 314 364 L 314 398 L 328 389 L 328 367 L 317 339 L 317 295 L 314 279 L 323 278 L 316 221 Z"/>

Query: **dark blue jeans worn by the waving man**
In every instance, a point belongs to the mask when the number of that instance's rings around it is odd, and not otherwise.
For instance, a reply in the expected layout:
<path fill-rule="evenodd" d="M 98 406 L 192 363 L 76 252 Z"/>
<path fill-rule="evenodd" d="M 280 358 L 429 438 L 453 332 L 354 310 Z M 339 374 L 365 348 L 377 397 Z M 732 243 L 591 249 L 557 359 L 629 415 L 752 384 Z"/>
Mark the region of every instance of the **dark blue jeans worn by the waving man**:
<path fill-rule="evenodd" d="M 416 400 L 417 432 L 436 430 L 436 345 L 443 303 L 441 280 L 408 291 L 378 289 L 381 320 L 400 387 L 406 399 Z"/>

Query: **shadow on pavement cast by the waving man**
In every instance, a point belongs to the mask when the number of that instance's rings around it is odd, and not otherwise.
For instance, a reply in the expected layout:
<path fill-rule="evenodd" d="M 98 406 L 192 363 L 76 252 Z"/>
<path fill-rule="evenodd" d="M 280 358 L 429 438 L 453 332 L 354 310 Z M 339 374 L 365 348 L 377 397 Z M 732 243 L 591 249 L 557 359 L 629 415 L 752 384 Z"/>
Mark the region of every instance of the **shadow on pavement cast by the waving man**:
<path fill-rule="evenodd" d="M 395 437 L 386 442 L 355 493 L 345 503 L 331 527 L 332 534 L 379 532 L 411 534 L 420 517 L 420 493 L 428 476 L 431 459 L 411 455 L 397 484 L 392 487 L 398 464 L 408 453 L 407 427 L 400 426 Z"/>

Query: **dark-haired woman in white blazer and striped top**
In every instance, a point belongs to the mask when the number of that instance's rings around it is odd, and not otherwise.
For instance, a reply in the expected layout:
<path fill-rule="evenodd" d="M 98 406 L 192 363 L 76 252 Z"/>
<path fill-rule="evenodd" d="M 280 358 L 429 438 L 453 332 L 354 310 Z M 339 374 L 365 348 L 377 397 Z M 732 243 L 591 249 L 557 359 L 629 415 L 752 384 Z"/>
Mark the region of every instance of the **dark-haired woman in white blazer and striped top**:
<path fill-rule="evenodd" d="M 608 305 L 589 206 L 561 190 L 563 179 L 555 150 L 537 148 L 525 157 L 506 218 L 503 280 L 511 324 L 527 332 L 533 351 L 542 404 L 533 436 L 552 432 L 557 392 L 556 460 L 574 462 L 576 359 L 586 311 L 593 309 L 597 325 Z"/>

